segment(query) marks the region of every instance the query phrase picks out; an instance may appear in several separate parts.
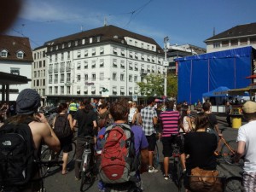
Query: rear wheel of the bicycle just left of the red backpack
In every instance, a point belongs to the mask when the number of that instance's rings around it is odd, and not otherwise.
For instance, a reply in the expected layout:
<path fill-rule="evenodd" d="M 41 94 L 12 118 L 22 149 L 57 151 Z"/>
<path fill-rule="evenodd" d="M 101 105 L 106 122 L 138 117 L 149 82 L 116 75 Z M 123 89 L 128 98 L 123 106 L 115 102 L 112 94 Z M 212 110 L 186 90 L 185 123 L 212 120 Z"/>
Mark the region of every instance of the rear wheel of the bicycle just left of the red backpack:
<path fill-rule="evenodd" d="M 89 189 L 93 183 L 93 176 L 91 174 L 91 168 L 90 168 L 90 154 L 88 154 L 86 162 L 87 162 L 87 165 L 84 165 L 84 161 L 82 161 L 81 163 L 80 169 L 82 172 L 81 172 L 80 191 Z M 83 168 L 85 168 L 84 171 L 83 171 Z"/>

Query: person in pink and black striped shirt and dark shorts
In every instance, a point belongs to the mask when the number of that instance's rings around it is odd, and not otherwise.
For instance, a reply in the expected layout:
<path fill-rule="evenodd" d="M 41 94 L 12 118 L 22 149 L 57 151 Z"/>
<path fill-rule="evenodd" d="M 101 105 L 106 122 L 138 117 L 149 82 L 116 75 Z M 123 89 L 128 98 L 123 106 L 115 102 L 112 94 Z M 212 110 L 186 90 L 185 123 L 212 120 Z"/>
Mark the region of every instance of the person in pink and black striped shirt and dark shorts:
<path fill-rule="evenodd" d="M 160 122 L 163 128 L 162 131 L 162 143 L 163 143 L 163 154 L 164 154 L 164 178 L 166 180 L 169 179 L 169 158 L 172 157 L 172 144 L 178 143 L 179 147 L 183 154 L 181 137 L 177 137 L 179 125 L 181 125 L 180 114 L 178 111 L 173 110 L 174 103 L 172 101 L 166 102 L 166 111 L 160 113 Z M 183 169 L 184 166 L 184 158 L 181 157 L 181 162 Z"/>

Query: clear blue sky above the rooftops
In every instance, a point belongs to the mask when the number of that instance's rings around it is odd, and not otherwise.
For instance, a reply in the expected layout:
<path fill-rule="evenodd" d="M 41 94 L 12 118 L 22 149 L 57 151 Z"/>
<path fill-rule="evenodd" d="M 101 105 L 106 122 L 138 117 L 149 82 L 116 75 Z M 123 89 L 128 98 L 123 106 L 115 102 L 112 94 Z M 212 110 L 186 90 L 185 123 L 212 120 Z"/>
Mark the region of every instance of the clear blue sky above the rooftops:
<path fill-rule="evenodd" d="M 154 38 L 163 47 L 203 42 L 215 32 L 256 22 L 256 0 L 24 0 L 5 32 L 30 38 L 36 48 L 54 38 L 108 25 Z"/>

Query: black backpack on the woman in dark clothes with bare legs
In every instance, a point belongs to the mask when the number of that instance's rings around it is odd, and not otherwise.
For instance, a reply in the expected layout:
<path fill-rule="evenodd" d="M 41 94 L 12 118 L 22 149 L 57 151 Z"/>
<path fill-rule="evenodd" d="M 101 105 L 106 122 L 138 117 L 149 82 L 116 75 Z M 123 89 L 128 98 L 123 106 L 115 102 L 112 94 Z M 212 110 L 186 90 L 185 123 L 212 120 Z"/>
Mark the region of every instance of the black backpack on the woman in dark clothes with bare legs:
<path fill-rule="evenodd" d="M 72 134 L 67 116 L 67 113 L 56 115 L 54 131 L 58 138 L 68 137 Z"/>

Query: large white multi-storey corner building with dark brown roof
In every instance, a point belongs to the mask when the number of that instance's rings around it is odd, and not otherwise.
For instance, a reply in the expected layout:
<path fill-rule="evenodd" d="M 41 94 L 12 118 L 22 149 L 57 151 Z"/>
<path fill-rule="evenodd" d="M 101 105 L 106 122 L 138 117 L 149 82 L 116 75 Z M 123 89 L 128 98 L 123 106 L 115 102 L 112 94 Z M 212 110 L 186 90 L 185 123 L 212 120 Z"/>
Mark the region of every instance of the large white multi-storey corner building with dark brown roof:
<path fill-rule="evenodd" d="M 48 104 L 71 98 L 141 96 L 137 82 L 144 75 L 166 73 L 163 50 L 153 39 L 116 26 L 57 38 L 44 46 Z"/>

